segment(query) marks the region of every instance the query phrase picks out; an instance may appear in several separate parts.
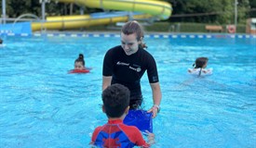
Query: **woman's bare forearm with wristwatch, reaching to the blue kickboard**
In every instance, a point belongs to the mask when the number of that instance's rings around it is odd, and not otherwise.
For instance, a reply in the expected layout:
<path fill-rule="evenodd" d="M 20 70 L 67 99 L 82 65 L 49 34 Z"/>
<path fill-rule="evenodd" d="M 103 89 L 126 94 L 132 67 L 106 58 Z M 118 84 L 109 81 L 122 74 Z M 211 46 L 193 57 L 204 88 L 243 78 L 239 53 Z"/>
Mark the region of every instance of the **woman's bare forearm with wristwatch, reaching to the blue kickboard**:
<path fill-rule="evenodd" d="M 160 109 L 159 105 L 161 103 L 162 93 L 161 93 L 159 82 L 150 83 L 150 86 L 152 89 L 154 105 L 148 110 L 148 112 L 153 112 L 153 118 L 154 118 L 154 117 L 156 117 L 156 114 L 157 114 L 158 110 Z"/>

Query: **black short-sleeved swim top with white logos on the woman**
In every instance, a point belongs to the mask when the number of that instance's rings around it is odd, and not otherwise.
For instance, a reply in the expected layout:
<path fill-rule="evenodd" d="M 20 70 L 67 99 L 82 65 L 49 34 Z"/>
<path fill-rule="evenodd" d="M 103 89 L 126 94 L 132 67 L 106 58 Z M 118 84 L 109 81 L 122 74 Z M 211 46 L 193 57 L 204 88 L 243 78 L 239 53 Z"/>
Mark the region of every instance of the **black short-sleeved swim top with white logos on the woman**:
<path fill-rule="evenodd" d="M 146 50 L 127 56 L 121 45 L 107 51 L 103 61 L 103 76 L 112 76 L 111 84 L 120 83 L 128 87 L 130 97 L 141 96 L 141 77 L 147 70 L 150 83 L 158 82 L 155 59 Z"/>

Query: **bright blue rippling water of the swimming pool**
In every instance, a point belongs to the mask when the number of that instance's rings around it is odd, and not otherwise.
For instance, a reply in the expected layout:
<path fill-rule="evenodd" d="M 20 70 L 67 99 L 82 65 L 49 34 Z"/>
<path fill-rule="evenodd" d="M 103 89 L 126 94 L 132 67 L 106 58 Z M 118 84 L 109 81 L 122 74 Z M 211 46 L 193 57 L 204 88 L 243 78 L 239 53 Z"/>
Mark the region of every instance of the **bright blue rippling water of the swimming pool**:
<path fill-rule="evenodd" d="M 101 66 L 118 34 L 6 36 L 0 47 L 0 147 L 88 147 L 101 113 Z M 256 38 L 148 35 L 163 93 L 154 119 L 155 148 L 254 147 Z M 67 74 L 83 53 L 88 74 Z M 187 68 L 209 57 L 213 75 Z M 144 106 L 152 105 L 147 78 Z M 254 146 L 253 146 L 254 145 Z"/>

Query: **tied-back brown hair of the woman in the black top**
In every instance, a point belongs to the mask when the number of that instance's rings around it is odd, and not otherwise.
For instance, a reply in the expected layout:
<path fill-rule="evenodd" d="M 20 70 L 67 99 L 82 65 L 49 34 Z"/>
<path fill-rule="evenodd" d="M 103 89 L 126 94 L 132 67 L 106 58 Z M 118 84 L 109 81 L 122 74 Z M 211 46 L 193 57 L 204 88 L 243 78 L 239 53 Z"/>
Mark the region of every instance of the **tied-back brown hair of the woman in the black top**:
<path fill-rule="evenodd" d="M 146 44 L 142 43 L 142 39 L 144 38 L 144 31 L 143 31 L 143 27 L 141 26 L 141 24 L 138 21 L 136 21 L 136 20 L 128 21 L 122 27 L 121 31 L 126 35 L 136 33 L 137 41 L 141 40 L 140 47 L 147 48 Z"/>

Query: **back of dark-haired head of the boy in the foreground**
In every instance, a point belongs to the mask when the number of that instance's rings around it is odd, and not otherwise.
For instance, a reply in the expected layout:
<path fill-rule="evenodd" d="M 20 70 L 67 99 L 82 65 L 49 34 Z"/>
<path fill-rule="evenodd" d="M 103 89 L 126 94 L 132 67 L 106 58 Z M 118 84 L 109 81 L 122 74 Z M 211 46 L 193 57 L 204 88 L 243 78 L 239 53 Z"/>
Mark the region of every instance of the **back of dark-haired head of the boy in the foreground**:
<path fill-rule="evenodd" d="M 129 90 L 121 84 L 108 86 L 101 95 L 107 117 L 122 117 L 129 105 Z"/>

